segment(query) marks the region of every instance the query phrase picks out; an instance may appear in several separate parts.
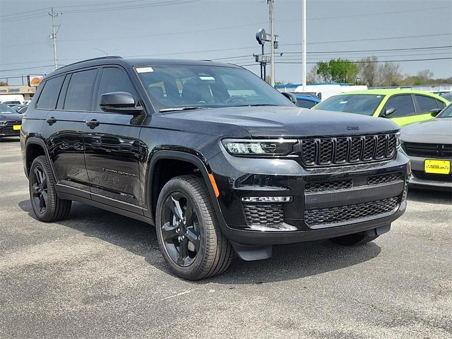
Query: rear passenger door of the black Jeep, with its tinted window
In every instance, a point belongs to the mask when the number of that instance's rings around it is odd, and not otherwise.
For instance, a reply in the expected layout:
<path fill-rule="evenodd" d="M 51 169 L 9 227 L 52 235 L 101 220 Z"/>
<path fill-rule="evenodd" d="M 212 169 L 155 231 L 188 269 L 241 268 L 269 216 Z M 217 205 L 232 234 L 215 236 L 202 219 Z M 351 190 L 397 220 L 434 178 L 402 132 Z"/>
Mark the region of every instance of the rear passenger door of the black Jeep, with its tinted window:
<path fill-rule="evenodd" d="M 46 116 L 41 133 L 44 135 L 57 183 L 79 189 L 79 195 L 89 198 L 89 180 L 85 167 L 83 127 L 90 109 L 97 69 L 89 69 L 59 77 L 58 102 Z M 43 88 L 49 85 L 46 82 Z M 40 108 L 41 97 L 37 108 Z M 61 187 L 61 190 L 65 188 Z M 83 191 L 81 191 L 83 190 Z M 71 191 L 73 193 L 73 191 Z"/>

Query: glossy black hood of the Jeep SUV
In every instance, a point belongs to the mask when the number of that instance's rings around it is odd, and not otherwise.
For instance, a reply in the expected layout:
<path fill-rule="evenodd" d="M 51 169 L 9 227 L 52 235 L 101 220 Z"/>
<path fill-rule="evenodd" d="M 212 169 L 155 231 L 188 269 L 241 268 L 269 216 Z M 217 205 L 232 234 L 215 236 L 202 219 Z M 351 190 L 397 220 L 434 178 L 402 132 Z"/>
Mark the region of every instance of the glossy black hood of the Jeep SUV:
<path fill-rule="evenodd" d="M 236 125 L 246 129 L 253 137 L 357 135 L 399 129 L 396 123 L 385 118 L 295 106 L 209 108 L 165 113 L 165 116 Z"/>

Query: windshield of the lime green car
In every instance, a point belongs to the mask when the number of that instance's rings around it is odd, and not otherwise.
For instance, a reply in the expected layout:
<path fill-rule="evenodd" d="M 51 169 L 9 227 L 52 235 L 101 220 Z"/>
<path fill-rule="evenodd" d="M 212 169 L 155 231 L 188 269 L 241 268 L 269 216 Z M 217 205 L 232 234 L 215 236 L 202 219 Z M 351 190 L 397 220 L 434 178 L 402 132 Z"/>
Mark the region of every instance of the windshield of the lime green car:
<path fill-rule="evenodd" d="M 384 95 L 377 94 L 337 95 L 325 99 L 314 109 L 373 115 L 383 98 Z"/>

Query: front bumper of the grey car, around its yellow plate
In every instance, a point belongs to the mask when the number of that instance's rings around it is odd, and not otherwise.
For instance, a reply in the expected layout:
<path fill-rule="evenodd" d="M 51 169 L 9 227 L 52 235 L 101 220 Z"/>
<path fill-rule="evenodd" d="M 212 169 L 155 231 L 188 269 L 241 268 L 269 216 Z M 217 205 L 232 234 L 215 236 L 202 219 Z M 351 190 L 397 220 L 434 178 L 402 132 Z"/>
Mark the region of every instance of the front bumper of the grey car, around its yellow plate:
<path fill-rule="evenodd" d="M 449 175 L 429 175 L 424 172 L 424 162 L 425 162 L 426 158 L 410 156 L 409 160 L 411 163 L 411 170 L 412 170 L 411 175 L 409 176 L 409 187 L 428 188 L 428 189 L 439 190 L 439 191 L 451 191 L 452 190 L 451 174 L 449 174 Z M 447 159 L 439 159 L 439 160 L 447 160 Z M 449 179 L 449 180 L 444 180 L 444 179 Z"/>

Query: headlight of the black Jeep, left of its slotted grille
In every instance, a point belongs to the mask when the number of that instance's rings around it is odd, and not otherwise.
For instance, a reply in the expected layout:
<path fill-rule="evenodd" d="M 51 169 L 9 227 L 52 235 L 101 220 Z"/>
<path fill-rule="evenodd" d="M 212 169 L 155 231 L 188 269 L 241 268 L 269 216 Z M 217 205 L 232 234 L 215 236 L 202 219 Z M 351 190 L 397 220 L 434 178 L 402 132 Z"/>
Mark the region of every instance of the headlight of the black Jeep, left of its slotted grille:
<path fill-rule="evenodd" d="M 232 155 L 275 156 L 287 155 L 292 152 L 297 140 L 237 140 L 225 139 L 224 148 Z"/>

